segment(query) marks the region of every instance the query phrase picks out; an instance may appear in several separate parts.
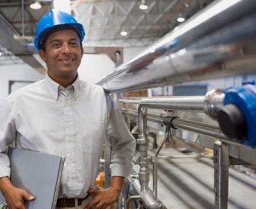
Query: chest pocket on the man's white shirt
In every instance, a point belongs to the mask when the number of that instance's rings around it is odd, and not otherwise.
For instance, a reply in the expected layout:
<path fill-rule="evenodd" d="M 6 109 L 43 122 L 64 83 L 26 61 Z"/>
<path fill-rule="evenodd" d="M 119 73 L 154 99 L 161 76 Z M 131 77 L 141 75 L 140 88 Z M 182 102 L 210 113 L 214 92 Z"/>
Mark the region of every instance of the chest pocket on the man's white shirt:
<path fill-rule="evenodd" d="M 87 122 L 83 126 L 83 152 L 99 153 L 103 145 L 103 123 Z"/>

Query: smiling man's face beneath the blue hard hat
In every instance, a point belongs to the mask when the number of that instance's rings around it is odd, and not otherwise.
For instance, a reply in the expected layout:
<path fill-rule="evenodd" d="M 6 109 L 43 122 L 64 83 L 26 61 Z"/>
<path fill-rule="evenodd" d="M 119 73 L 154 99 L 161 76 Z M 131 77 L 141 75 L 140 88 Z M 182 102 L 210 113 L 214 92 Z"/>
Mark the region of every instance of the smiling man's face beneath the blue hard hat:
<path fill-rule="evenodd" d="M 60 83 L 59 80 L 67 79 L 74 82 L 83 55 L 77 33 L 73 30 L 52 33 L 46 39 L 45 52 L 40 50 L 39 54 L 46 61 L 48 75 L 54 81 Z"/>

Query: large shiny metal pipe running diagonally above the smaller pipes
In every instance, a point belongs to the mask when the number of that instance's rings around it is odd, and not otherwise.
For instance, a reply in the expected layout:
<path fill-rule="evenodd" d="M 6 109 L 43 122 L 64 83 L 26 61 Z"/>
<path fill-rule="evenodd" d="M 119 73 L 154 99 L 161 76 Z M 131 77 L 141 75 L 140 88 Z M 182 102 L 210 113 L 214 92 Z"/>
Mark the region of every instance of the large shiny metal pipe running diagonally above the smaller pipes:
<path fill-rule="evenodd" d="M 206 79 L 203 74 L 214 72 L 223 77 L 221 64 L 238 58 L 238 69 L 225 72 L 255 72 L 255 50 L 248 44 L 255 33 L 255 0 L 216 0 L 97 84 L 114 93 Z"/>

